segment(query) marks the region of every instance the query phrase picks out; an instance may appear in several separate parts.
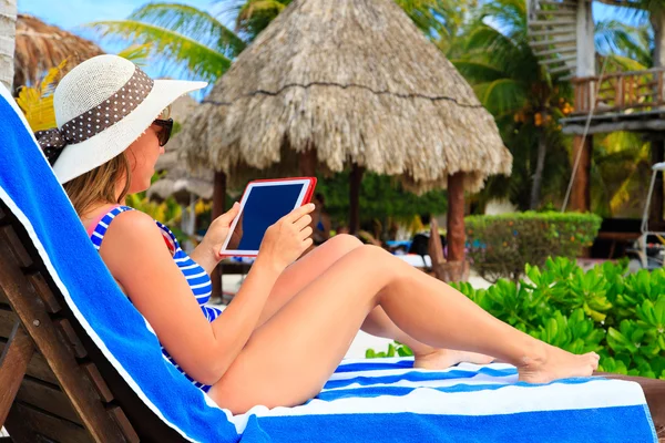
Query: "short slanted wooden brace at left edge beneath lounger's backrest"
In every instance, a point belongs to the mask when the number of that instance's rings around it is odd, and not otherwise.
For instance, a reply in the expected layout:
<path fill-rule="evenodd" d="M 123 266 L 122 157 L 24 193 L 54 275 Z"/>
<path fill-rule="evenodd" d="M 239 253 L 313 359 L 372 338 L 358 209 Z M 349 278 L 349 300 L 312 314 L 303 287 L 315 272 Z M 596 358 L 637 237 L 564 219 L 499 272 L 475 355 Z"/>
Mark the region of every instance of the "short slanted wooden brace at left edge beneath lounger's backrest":
<path fill-rule="evenodd" d="M 0 426 L 4 424 L 4 419 L 17 396 L 32 353 L 34 353 L 32 340 L 17 321 L 0 357 Z"/>

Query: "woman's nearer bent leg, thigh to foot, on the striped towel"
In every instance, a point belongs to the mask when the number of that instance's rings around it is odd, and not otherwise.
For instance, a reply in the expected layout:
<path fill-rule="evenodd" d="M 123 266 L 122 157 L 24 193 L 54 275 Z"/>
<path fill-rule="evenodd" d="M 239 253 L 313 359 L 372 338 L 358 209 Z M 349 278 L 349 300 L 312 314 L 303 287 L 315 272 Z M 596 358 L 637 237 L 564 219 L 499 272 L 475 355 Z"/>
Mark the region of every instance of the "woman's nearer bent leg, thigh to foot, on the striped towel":
<path fill-rule="evenodd" d="M 335 371 L 377 306 L 416 340 L 495 356 L 520 379 L 590 375 L 597 356 L 573 356 L 495 319 L 450 286 L 375 247 L 354 249 L 258 328 L 209 395 L 242 413 L 300 404 Z"/>

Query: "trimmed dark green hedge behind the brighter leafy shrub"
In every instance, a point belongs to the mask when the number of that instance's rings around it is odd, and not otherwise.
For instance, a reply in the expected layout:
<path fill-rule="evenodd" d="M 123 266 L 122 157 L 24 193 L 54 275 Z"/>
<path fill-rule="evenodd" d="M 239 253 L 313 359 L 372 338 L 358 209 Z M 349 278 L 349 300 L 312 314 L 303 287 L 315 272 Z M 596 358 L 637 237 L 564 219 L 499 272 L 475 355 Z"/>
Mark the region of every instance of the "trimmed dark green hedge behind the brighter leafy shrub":
<path fill-rule="evenodd" d="M 471 266 L 489 281 L 518 280 L 526 264 L 575 258 L 591 246 L 601 217 L 575 213 L 519 213 L 466 218 Z"/>

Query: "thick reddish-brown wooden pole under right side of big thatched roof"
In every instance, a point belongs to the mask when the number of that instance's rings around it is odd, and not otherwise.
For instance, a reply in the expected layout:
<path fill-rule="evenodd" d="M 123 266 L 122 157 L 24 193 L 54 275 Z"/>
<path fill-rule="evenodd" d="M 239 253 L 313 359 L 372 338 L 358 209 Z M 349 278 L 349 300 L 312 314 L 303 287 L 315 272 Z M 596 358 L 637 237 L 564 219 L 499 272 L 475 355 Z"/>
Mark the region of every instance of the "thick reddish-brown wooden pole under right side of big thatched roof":
<path fill-rule="evenodd" d="M 448 176 L 448 261 L 464 261 L 464 173 Z"/>

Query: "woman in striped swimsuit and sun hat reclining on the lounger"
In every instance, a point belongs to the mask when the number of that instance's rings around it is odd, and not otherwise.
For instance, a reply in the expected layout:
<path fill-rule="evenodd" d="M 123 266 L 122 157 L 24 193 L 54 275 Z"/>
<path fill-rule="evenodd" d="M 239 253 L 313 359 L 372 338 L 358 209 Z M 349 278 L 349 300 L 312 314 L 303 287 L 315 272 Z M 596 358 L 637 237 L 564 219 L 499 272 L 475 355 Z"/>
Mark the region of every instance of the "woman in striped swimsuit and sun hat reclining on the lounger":
<path fill-rule="evenodd" d="M 219 406 L 243 413 L 256 404 L 305 402 L 319 392 L 358 329 L 407 343 L 422 368 L 487 359 L 444 349 L 494 356 L 516 365 L 526 382 L 590 375 L 597 367 L 596 354 L 573 356 L 538 341 L 354 237 L 336 236 L 298 260 L 313 243 L 313 205 L 268 228 L 223 313 L 203 307 L 237 204 L 213 222 L 191 257 L 167 228 L 122 206 L 127 193 L 150 186 L 168 141 L 173 122 L 161 111 L 202 86 L 153 81 L 124 59 L 101 55 L 60 82 L 59 127 L 38 138 L 102 259 L 164 353 Z"/>

